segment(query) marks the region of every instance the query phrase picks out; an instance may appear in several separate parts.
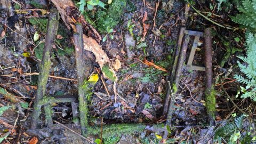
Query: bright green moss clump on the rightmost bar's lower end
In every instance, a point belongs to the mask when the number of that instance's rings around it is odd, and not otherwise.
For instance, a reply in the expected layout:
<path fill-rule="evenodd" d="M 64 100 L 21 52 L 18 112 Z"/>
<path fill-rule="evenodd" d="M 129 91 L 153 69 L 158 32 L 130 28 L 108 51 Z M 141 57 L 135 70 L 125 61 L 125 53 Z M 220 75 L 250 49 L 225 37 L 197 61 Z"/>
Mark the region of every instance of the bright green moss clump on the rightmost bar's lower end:
<path fill-rule="evenodd" d="M 207 114 L 210 115 L 213 119 L 215 119 L 215 112 L 216 112 L 215 95 L 216 95 L 216 92 L 213 88 L 210 90 L 206 90 L 205 92 L 205 107 L 207 110 Z"/>

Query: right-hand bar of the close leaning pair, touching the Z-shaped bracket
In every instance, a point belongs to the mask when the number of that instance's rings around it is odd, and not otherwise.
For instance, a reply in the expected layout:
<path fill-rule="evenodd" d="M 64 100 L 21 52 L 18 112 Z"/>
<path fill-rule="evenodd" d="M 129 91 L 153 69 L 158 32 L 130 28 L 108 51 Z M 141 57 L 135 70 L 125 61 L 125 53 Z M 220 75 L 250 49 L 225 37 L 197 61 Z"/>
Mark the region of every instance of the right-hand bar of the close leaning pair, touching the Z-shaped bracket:
<path fill-rule="evenodd" d="M 185 40 L 183 41 L 183 44 L 182 44 L 182 47 L 180 50 L 179 59 L 178 59 L 179 61 L 177 62 L 177 70 L 175 73 L 175 79 L 174 79 L 173 83 L 169 83 L 169 89 L 171 91 L 171 94 L 169 95 L 169 97 L 171 100 L 169 102 L 166 125 L 171 124 L 172 114 L 174 111 L 173 106 L 174 106 L 174 102 L 175 102 L 175 97 L 173 97 L 173 95 L 177 94 L 177 92 L 178 92 L 180 76 L 182 75 L 181 70 L 182 70 L 183 64 L 185 62 L 185 55 L 187 53 L 187 47 L 188 47 L 190 37 L 188 35 L 186 35 L 183 39 L 185 39 Z"/>

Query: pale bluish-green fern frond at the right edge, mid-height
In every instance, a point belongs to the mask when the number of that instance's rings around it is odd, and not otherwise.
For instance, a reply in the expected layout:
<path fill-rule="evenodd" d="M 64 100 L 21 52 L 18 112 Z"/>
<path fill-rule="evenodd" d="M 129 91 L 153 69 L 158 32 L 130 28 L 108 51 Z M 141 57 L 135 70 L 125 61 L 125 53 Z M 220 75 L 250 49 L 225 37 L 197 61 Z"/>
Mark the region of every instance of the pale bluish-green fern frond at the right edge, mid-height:
<path fill-rule="evenodd" d="M 256 0 L 255 0 L 256 1 Z M 256 7 L 256 6 L 255 6 Z M 237 61 L 238 67 L 244 76 L 235 75 L 239 83 L 245 84 L 245 89 L 242 87 L 242 98 L 251 98 L 256 101 L 256 36 L 252 33 L 246 34 L 246 55 L 247 57 L 238 57 L 246 65 Z"/>

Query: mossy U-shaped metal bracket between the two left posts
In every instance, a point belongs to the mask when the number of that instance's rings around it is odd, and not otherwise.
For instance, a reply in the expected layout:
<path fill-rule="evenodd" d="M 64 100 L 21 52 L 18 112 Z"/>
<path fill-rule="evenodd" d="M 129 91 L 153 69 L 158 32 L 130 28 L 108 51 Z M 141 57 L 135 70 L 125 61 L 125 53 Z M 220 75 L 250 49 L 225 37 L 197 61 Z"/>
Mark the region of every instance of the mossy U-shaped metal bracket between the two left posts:
<path fill-rule="evenodd" d="M 44 111 L 45 111 L 45 118 L 47 126 L 52 126 L 52 106 L 51 103 L 61 103 L 61 102 L 71 102 L 71 109 L 72 109 L 72 115 L 73 119 L 76 119 L 78 117 L 78 100 L 76 95 L 60 95 L 55 96 L 50 101 L 44 103 Z M 61 108 L 63 109 L 63 108 Z"/>

